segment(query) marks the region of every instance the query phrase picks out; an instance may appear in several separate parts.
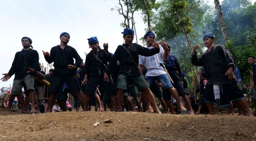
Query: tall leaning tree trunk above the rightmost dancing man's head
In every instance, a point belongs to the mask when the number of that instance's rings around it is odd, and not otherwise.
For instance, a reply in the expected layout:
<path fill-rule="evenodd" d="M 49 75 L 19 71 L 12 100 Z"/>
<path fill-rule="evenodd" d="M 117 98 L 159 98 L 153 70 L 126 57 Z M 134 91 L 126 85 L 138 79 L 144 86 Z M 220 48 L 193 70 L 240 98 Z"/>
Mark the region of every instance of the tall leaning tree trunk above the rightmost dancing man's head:
<path fill-rule="evenodd" d="M 224 17 L 221 11 L 221 6 L 219 5 L 219 0 L 214 0 L 215 3 L 215 8 L 217 10 L 218 13 L 218 17 L 219 17 L 219 25 L 221 27 L 221 31 L 224 37 L 224 41 L 227 44 L 229 42 L 229 34 L 225 25 L 225 21 L 224 21 Z"/>

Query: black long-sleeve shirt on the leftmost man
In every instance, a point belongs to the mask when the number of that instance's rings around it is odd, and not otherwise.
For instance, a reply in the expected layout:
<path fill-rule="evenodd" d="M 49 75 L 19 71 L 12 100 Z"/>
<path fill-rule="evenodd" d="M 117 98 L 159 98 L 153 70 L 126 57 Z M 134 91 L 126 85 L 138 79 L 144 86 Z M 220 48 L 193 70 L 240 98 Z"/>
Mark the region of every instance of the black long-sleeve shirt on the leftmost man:
<path fill-rule="evenodd" d="M 37 71 L 39 67 L 39 55 L 37 50 L 22 50 L 22 53 L 24 53 L 30 60 L 30 64 L 27 62 L 27 59 L 20 54 L 20 51 L 16 52 L 11 68 L 8 72 L 8 75 L 10 76 L 15 74 L 14 80 L 22 78 L 25 75 L 34 75 L 34 73 L 27 73 L 28 67 L 33 68 L 35 71 Z"/>

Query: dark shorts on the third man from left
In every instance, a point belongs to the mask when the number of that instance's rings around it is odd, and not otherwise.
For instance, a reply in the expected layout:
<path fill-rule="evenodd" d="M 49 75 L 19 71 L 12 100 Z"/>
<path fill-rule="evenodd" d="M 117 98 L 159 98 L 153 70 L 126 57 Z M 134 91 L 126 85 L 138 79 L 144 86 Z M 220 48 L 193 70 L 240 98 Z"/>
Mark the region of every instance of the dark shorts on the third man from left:
<path fill-rule="evenodd" d="M 116 93 L 114 85 L 111 81 L 106 82 L 104 81 L 103 76 L 97 76 L 97 77 L 90 78 L 89 82 L 86 84 L 84 94 L 94 95 L 96 88 L 100 84 L 105 89 L 105 92 L 106 92 L 105 95 L 111 95 Z"/>

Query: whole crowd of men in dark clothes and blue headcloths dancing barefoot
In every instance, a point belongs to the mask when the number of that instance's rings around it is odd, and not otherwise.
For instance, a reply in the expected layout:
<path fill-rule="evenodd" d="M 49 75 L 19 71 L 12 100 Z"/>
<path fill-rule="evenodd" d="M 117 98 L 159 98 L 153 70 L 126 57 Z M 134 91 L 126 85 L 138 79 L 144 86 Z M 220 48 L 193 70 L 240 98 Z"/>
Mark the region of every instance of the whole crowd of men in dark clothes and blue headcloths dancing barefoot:
<path fill-rule="evenodd" d="M 194 115 L 200 114 L 207 106 L 209 114 L 214 115 L 214 105 L 217 105 L 228 106 L 229 114 L 234 115 L 234 101 L 241 110 L 239 114 L 253 116 L 239 87 L 241 79 L 236 60 L 223 45 L 214 44 L 216 39 L 213 33 L 203 36 L 203 43 L 208 50 L 201 57 L 196 52 L 199 45 L 194 46 L 192 52 L 192 64 L 201 66 L 198 108 L 195 108 L 195 96 L 187 91 L 185 74 L 178 59 L 170 54 L 167 41 L 158 43 L 155 33 L 147 32 L 144 35 L 146 47 L 143 47 L 133 43 L 133 29 L 125 28 L 122 34 L 124 43 L 117 47 L 114 54 L 109 52 L 108 43 L 103 43 L 101 48 L 97 37 L 89 38 L 91 51 L 83 63 L 77 51 L 68 45 L 69 33 L 61 33 L 60 45 L 53 47 L 50 52 L 43 51 L 45 60 L 49 64 L 54 63 L 55 67 L 47 75 L 41 70 L 38 52 L 31 46 L 32 40 L 23 37 L 23 49 L 15 54 L 9 73 L 3 74 L 1 79 L 7 81 L 15 75 L 9 102 L 4 102 L 6 108 L 11 108 L 17 98 L 21 107 L 19 112 L 22 113 L 28 112 L 28 106 L 31 113 L 72 111 L 67 101 L 70 93 L 75 99 L 76 111 L 88 111 L 92 107 L 95 111 L 98 108 L 104 111 L 107 105 L 115 112 L 132 110 Z M 255 57 L 249 56 L 248 63 L 255 72 Z M 34 74 L 37 72 L 45 75 L 44 79 L 50 83 L 45 91 L 43 84 L 35 80 Z M 25 96 L 22 95 L 22 88 Z M 137 91 L 141 95 L 140 99 Z M 42 97 L 48 99 L 42 100 Z M 256 101 L 256 86 L 253 100 Z M 44 110 L 40 110 L 39 103 L 43 103 Z"/>

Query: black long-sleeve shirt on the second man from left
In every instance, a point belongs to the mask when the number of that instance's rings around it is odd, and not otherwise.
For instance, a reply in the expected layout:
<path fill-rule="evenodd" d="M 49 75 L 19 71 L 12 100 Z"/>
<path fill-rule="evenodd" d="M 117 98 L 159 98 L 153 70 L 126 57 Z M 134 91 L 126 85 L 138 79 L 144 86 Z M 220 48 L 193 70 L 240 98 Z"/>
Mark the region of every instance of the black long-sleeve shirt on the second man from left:
<path fill-rule="evenodd" d="M 51 49 L 50 57 L 45 57 L 51 64 L 54 62 L 54 71 L 52 76 L 76 75 L 75 70 L 82 64 L 82 58 L 71 46 L 65 46 L 64 49 L 57 45 Z M 75 63 L 74 63 L 74 59 Z M 68 65 L 75 66 L 75 69 L 69 69 Z"/>

